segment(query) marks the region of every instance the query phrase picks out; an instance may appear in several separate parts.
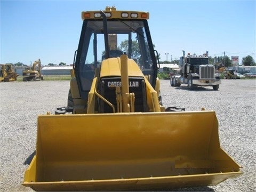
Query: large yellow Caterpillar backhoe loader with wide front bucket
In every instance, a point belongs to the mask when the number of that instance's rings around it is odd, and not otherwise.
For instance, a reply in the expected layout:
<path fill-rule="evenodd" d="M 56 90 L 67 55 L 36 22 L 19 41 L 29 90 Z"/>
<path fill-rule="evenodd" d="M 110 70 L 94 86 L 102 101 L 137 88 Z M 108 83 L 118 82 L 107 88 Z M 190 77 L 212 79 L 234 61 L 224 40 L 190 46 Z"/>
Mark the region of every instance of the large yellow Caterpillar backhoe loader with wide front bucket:
<path fill-rule="evenodd" d="M 107 6 L 82 12 L 82 19 L 69 106 L 38 116 L 36 155 L 22 185 L 170 189 L 216 185 L 243 173 L 220 146 L 214 111 L 162 105 L 148 12 Z M 127 46 L 111 43 L 113 34 Z"/>

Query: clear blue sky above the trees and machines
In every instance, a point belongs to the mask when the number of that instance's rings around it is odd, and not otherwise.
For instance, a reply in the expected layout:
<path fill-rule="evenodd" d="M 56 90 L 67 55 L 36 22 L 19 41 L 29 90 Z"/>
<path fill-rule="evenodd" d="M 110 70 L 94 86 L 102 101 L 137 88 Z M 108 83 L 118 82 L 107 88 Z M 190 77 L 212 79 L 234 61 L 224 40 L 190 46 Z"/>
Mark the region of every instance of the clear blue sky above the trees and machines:
<path fill-rule="evenodd" d="M 12 1 L 0 0 L 0 63 L 72 64 L 81 33 L 82 11 L 149 12 L 161 60 L 187 53 L 243 57 L 256 61 L 256 1 Z"/>

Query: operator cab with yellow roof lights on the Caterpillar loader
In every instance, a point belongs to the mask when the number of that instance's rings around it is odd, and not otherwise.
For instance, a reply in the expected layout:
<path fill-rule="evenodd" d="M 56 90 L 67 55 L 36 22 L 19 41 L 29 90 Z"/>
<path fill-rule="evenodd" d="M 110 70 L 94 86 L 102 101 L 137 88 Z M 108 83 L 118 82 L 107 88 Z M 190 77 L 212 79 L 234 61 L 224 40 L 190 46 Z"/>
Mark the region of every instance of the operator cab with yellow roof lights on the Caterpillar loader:
<path fill-rule="evenodd" d="M 108 58 L 126 54 L 137 62 L 150 84 L 155 87 L 157 62 L 149 33 L 147 12 L 103 11 L 82 12 L 83 27 L 74 63 L 82 99 L 87 99 L 95 69 Z M 92 66 L 90 68 L 86 66 Z"/>

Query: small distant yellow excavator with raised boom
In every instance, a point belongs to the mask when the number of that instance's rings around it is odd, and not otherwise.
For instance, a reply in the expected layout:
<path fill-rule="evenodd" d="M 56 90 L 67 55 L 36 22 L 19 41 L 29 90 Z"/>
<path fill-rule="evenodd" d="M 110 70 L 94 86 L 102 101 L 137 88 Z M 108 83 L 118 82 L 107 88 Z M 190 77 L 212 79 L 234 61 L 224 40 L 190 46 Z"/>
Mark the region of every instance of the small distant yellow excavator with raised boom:
<path fill-rule="evenodd" d="M 22 72 L 23 81 L 40 81 L 43 80 L 41 69 L 41 60 L 38 59 L 33 63 L 32 67 L 26 67 Z"/>

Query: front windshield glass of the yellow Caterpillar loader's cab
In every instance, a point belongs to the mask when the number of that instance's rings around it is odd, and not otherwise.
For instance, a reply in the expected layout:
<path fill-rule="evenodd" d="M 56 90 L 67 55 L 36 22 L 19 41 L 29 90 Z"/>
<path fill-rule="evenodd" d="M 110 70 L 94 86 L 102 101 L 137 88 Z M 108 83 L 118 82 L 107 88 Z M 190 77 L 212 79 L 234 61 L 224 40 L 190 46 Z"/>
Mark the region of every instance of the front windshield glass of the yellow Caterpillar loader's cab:
<path fill-rule="evenodd" d="M 81 91 L 90 91 L 91 84 L 83 85 L 82 77 L 92 82 L 94 69 L 99 68 L 102 60 L 107 59 L 105 35 L 108 34 L 109 58 L 126 54 L 137 62 L 144 75 L 156 78 L 157 64 L 147 20 L 108 20 L 107 30 L 102 20 L 84 20 L 78 45 L 75 70 Z M 150 80 L 154 86 L 154 78 Z M 80 82 L 80 83 L 79 83 Z M 83 94 L 86 97 L 86 94 Z"/>

